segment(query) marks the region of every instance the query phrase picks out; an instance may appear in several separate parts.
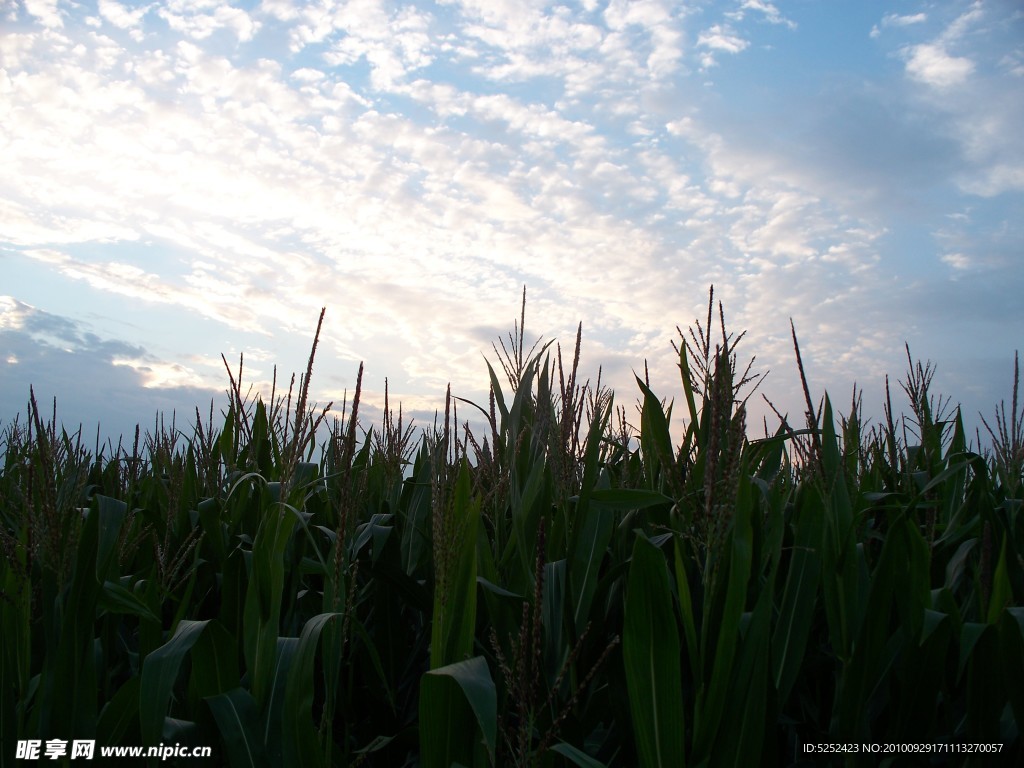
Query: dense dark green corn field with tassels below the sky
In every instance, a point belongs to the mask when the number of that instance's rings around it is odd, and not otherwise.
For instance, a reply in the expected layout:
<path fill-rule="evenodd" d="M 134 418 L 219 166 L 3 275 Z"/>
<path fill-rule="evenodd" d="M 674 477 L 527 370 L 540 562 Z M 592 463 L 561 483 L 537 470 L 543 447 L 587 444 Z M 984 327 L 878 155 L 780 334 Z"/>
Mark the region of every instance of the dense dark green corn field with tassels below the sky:
<path fill-rule="evenodd" d="M 419 442 L 388 406 L 360 438 L 357 384 L 317 446 L 315 341 L 287 395 L 244 395 L 240 362 L 219 431 L 197 412 L 108 457 L 33 399 L 0 437 L 0 764 L 25 738 L 231 766 L 1020 760 L 1018 382 L 987 456 L 920 364 L 905 423 L 808 393 L 749 440 L 757 376 L 713 309 L 675 406 L 638 378 L 636 419 L 578 380 L 579 335 L 527 350 L 521 319 L 489 402 L 450 395 Z"/>

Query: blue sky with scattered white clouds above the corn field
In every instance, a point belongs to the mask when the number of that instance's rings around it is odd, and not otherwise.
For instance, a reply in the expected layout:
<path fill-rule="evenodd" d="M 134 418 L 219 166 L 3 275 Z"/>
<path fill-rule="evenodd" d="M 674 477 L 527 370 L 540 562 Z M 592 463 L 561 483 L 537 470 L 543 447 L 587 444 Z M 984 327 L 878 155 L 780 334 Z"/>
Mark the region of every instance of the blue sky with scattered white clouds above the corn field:
<path fill-rule="evenodd" d="M 485 403 L 519 316 L 682 402 L 707 313 L 878 423 L 908 345 L 969 429 L 1024 342 L 1024 6 L 0 0 L 0 426 L 94 435 L 266 396 Z M 677 412 L 681 413 L 681 412 Z M 679 417 L 676 418 L 678 426 Z M 638 419 L 637 419 L 638 421 Z M 775 422 L 769 421 L 774 429 Z M 760 429 L 756 430 L 760 433 Z"/>

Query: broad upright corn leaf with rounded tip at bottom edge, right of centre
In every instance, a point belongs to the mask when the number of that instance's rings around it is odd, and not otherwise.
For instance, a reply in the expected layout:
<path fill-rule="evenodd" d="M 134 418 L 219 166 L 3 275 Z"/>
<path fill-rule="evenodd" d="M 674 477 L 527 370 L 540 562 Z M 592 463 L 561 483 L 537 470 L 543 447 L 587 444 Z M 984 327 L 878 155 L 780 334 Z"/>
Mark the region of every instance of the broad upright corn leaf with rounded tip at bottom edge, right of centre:
<path fill-rule="evenodd" d="M 665 557 L 638 531 L 626 585 L 623 662 L 643 768 L 685 763 L 679 650 Z"/>

